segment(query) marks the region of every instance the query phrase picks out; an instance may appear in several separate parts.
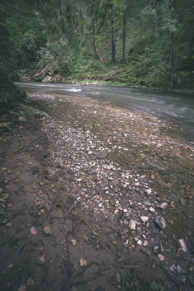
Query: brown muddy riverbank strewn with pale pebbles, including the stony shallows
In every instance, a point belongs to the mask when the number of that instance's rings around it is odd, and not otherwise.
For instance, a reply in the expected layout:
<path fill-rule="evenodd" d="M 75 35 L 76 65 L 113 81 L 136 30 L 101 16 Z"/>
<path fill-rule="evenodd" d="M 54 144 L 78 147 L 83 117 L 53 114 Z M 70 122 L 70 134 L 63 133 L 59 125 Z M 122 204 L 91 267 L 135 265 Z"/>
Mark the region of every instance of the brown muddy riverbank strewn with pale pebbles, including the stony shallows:
<path fill-rule="evenodd" d="M 88 97 L 27 106 L 1 117 L 0 290 L 193 290 L 181 128 Z"/>

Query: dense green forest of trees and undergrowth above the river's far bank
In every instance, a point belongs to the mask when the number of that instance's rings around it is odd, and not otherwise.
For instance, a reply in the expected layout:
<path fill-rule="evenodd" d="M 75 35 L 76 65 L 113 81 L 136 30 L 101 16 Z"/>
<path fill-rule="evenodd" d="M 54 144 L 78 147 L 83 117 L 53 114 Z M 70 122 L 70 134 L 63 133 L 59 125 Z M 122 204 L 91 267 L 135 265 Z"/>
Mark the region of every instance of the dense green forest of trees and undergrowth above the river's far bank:
<path fill-rule="evenodd" d="M 193 92 L 194 0 L 0 0 L 0 67 L 2 80 Z"/>

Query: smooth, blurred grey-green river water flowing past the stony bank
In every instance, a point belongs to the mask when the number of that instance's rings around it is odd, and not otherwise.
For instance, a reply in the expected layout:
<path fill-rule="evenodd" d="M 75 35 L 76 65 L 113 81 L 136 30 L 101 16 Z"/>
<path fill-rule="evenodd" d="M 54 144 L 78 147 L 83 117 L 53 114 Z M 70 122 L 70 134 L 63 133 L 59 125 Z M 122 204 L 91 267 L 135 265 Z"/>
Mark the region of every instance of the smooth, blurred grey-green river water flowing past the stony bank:
<path fill-rule="evenodd" d="M 110 101 L 149 114 L 152 119 L 161 119 L 165 125 L 177 129 L 171 134 L 176 134 L 181 142 L 194 141 L 193 95 L 90 84 L 17 82 L 16 85 L 27 93 L 69 94 Z"/>

